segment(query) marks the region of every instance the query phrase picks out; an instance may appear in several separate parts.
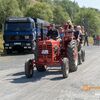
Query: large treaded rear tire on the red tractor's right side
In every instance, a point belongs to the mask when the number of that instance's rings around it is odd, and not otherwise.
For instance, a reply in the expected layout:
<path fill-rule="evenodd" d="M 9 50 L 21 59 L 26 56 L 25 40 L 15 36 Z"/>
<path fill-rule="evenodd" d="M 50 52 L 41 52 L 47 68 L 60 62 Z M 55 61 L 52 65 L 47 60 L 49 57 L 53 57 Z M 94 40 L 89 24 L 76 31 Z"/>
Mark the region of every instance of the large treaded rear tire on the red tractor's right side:
<path fill-rule="evenodd" d="M 67 56 L 69 60 L 69 70 L 74 72 L 78 69 L 78 49 L 77 42 L 71 41 L 67 47 Z"/>

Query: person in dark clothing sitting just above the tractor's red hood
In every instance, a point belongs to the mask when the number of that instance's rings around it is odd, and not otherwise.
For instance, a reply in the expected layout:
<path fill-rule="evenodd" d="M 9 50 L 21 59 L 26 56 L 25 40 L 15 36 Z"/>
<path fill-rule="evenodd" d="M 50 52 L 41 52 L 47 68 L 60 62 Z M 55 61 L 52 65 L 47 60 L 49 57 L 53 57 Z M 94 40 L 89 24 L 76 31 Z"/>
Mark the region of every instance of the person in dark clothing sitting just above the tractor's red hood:
<path fill-rule="evenodd" d="M 55 28 L 55 24 L 49 27 L 47 37 L 54 40 L 58 40 L 60 38 L 59 31 Z"/>

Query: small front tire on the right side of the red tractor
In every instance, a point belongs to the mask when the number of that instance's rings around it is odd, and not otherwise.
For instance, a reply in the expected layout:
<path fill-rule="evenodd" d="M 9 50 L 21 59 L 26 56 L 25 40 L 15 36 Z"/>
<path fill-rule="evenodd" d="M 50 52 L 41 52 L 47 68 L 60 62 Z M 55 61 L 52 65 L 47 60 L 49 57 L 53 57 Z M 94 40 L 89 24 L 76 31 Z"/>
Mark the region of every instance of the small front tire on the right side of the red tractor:
<path fill-rule="evenodd" d="M 68 65 L 68 59 L 63 58 L 63 65 L 62 65 L 62 74 L 63 78 L 67 78 L 69 75 L 69 65 Z"/>

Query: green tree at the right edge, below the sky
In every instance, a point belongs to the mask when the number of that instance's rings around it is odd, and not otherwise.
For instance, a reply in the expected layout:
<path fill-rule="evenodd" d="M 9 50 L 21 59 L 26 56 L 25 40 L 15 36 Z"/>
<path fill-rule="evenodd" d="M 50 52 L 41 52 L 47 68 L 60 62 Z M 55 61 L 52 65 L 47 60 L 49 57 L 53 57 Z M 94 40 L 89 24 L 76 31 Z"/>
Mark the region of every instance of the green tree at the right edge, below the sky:
<path fill-rule="evenodd" d="M 82 8 L 75 18 L 75 23 L 85 27 L 85 30 L 90 33 L 98 33 L 100 26 L 99 14 L 96 10 L 90 8 Z"/>

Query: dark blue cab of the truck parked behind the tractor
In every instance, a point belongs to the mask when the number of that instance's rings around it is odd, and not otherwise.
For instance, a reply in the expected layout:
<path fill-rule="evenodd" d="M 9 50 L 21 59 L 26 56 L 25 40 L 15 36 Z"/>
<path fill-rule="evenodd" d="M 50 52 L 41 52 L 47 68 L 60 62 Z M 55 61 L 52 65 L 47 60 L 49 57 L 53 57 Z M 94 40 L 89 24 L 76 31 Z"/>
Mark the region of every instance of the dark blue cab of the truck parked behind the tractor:
<path fill-rule="evenodd" d="M 34 19 L 30 17 L 9 17 L 4 23 L 4 50 L 11 53 L 14 50 L 33 50 L 36 39 Z"/>

